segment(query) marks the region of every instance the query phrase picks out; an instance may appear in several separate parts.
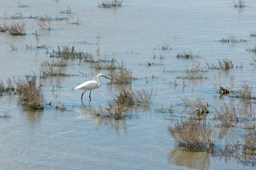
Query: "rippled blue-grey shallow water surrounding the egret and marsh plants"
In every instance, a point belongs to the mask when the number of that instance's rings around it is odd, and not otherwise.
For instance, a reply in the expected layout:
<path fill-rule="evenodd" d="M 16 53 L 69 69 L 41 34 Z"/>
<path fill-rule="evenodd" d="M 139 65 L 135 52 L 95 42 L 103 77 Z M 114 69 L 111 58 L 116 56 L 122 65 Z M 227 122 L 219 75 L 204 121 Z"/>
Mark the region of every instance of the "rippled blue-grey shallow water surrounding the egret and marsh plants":
<path fill-rule="evenodd" d="M 27 5 L 18 7 L 19 3 Z M 70 5 L 71 14 L 60 13 Z M 212 107 L 227 104 L 241 104 L 243 100 L 234 97 L 220 97 L 214 89 L 213 75 L 229 82 L 235 76 L 236 88 L 245 81 L 256 91 L 256 65 L 251 65 L 255 54 L 246 48 L 255 46 L 256 38 L 253 18 L 256 17 L 256 3 L 246 1 L 246 7 L 233 8 L 233 1 L 124 1 L 118 8 L 98 8 L 97 1 L 1 1 L 0 24 L 25 22 L 25 36 L 11 36 L 0 32 L 0 79 L 23 77 L 27 73 L 38 74 L 43 60 L 52 60 L 45 49 L 36 49 L 34 33 L 40 34 L 39 45 L 46 45 L 49 52 L 58 45 L 74 46 L 75 50 L 96 55 L 100 49 L 101 57 L 107 54 L 116 62 L 123 60 L 125 66 L 138 78 L 131 84 L 133 89 L 157 91 L 147 107 L 134 107 L 133 117 L 124 120 L 103 119 L 94 115 L 97 104 L 105 105 L 112 100 L 120 85 L 102 86 L 89 92 L 73 90 L 77 85 L 91 80 L 98 73 L 91 64 L 79 60 L 68 60 L 67 71 L 71 76 L 49 77 L 43 79 L 45 102 L 49 103 L 58 94 L 66 110 L 45 107 L 43 111 L 27 110 L 20 103 L 20 96 L 2 93 L 0 111 L 9 113 L 9 118 L 0 118 L 0 168 L 6 169 L 223 169 L 251 168 L 243 166 L 236 159 L 216 159 L 206 153 L 191 153 L 180 150 L 173 138 L 167 134 L 167 126 L 173 125 L 182 116 L 189 117 L 179 97 L 204 96 Z M 11 19 L 20 12 L 24 18 Z M 66 17 L 68 21 L 52 20 L 51 29 L 41 29 L 37 19 L 28 16 L 50 15 Z M 72 19 L 73 18 L 73 19 Z M 81 23 L 71 24 L 79 18 Z M 219 40 L 229 35 L 245 39 L 247 42 L 222 43 Z M 7 44 L 10 42 L 17 50 Z M 162 50 L 165 43 L 171 50 Z M 33 48 L 27 49 L 26 45 Z M 160 49 L 159 49 L 159 46 Z M 201 67 L 205 60 L 217 64 L 217 59 L 233 60 L 234 68 L 229 71 L 207 70 L 207 79 L 176 79 L 185 75 L 191 60 L 177 58 L 180 51 L 191 50 L 198 55 Z M 156 58 L 153 58 L 153 53 Z M 114 55 L 114 53 L 116 53 Z M 160 59 L 160 55 L 164 59 Z M 148 62 L 152 63 L 148 66 Z M 242 69 L 236 69 L 243 63 Z M 75 75 L 75 76 L 72 76 Z M 56 80 L 61 87 L 54 93 L 52 86 Z M 174 80 L 177 86 L 173 85 Z M 147 82 L 148 81 L 148 82 Z M 124 85 L 126 86 L 126 85 Z M 250 101 L 252 103 L 253 100 Z M 170 121 L 168 113 L 155 112 L 155 108 L 174 106 L 175 120 Z M 253 103 L 252 103 L 253 104 Z M 255 104 L 254 104 L 255 106 Z M 2 116 L 2 112 L 0 112 Z M 208 119 L 212 113 L 208 115 Z M 176 120 L 177 119 L 177 120 Z M 247 132 L 237 126 L 227 131 L 215 128 L 216 144 L 225 146 L 242 143 L 242 135 Z M 224 138 L 217 134 L 224 131 Z"/>

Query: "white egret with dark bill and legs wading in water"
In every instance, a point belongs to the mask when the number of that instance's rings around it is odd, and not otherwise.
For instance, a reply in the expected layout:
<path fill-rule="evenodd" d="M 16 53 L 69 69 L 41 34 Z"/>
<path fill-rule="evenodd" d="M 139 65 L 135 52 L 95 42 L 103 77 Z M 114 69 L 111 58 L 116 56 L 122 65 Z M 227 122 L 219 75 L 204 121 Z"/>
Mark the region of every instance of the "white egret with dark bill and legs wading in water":
<path fill-rule="evenodd" d="M 94 80 L 96 77 L 97 77 L 98 82 L 96 80 Z M 90 91 L 89 98 L 91 100 L 91 92 L 92 92 L 92 90 L 94 90 L 96 88 L 99 88 L 101 86 L 100 78 L 101 77 L 105 77 L 107 79 L 110 79 L 110 78 L 104 76 L 103 74 L 98 74 L 96 77 L 94 77 L 91 81 L 84 82 L 83 84 L 80 84 L 79 86 L 76 87 L 76 90 L 84 90 L 84 92 L 86 90 L 89 90 Z M 83 94 L 84 94 L 84 92 L 83 92 Z M 83 98 L 83 94 L 82 94 L 81 100 Z"/>

